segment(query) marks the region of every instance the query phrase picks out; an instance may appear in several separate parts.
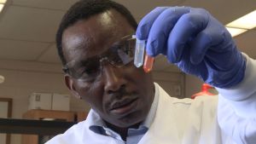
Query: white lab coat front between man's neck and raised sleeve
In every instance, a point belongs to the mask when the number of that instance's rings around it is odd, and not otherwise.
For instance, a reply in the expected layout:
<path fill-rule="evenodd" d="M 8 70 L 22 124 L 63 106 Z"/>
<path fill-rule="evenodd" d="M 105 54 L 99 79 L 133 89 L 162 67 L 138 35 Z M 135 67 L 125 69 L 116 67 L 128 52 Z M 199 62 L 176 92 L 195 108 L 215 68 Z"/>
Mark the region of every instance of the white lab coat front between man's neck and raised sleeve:
<path fill-rule="evenodd" d="M 158 88 L 160 98 L 154 122 L 139 144 L 221 143 L 217 95 L 198 96 L 195 100 L 177 99 Z"/>

